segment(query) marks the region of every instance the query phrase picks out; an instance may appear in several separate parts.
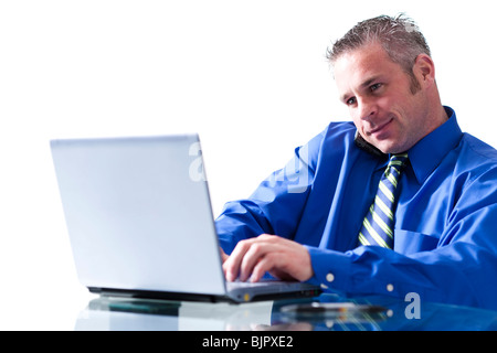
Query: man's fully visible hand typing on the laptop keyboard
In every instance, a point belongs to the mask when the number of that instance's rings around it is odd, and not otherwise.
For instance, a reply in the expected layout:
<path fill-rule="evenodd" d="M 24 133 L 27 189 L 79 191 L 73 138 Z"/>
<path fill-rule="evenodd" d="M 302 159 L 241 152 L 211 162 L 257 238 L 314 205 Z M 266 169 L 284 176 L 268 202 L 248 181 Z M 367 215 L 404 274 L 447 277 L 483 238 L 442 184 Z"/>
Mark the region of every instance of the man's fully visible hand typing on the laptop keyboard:
<path fill-rule="evenodd" d="M 284 280 L 306 281 L 313 277 L 313 266 L 307 249 L 293 240 L 263 234 L 240 242 L 228 256 L 223 252 L 223 270 L 229 281 L 240 278 L 258 281 L 266 271 Z"/>

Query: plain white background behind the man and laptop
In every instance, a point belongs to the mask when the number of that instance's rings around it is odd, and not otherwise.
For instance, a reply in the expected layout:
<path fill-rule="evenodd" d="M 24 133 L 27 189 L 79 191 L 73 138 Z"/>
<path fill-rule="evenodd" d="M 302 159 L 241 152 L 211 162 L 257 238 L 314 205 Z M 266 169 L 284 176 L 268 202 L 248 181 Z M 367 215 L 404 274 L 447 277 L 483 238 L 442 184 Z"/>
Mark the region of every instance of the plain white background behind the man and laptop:
<path fill-rule="evenodd" d="M 325 58 L 332 41 L 405 12 L 432 47 L 443 103 L 497 146 L 491 4 L 0 0 L 0 330 L 71 330 L 92 298 L 50 139 L 200 132 L 219 214 L 329 121 L 349 120 Z"/>

